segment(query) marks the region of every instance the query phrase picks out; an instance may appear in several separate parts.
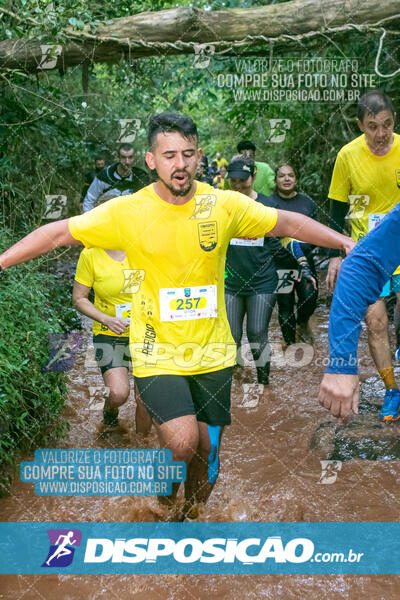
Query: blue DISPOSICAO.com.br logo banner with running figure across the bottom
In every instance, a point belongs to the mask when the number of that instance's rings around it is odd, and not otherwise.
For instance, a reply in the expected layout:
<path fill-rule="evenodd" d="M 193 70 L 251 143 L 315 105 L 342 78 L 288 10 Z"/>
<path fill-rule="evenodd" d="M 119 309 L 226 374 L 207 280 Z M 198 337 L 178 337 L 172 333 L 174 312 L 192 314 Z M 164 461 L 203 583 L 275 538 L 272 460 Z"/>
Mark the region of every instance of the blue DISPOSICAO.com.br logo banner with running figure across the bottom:
<path fill-rule="evenodd" d="M 400 523 L 0 523 L 2 574 L 397 574 Z"/>

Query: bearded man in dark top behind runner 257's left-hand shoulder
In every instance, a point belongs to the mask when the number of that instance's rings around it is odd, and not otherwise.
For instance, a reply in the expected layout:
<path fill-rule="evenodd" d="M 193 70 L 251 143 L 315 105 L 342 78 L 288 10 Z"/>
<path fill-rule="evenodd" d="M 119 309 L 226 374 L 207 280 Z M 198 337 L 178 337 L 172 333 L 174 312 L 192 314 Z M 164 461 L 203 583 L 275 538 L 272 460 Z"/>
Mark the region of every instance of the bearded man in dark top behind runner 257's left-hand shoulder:
<path fill-rule="evenodd" d="M 91 210 L 99 196 L 107 193 L 112 196 L 134 194 L 149 185 L 149 175 L 133 166 L 135 153 L 131 144 L 121 144 L 118 149 L 118 162 L 105 167 L 94 178 L 83 202 L 83 212 Z"/>

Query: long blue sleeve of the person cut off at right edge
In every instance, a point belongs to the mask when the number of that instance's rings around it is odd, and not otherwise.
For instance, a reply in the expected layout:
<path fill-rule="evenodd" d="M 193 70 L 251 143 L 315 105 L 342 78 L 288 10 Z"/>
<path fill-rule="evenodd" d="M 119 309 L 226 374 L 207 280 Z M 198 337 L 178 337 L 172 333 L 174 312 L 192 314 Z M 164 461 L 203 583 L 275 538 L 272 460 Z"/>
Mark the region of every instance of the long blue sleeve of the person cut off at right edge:
<path fill-rule="evenodd" d="M 400 263 L 400 205 L 344 260 L 329 316 L 327 373 L 356 374 L 361 321 Z"/>

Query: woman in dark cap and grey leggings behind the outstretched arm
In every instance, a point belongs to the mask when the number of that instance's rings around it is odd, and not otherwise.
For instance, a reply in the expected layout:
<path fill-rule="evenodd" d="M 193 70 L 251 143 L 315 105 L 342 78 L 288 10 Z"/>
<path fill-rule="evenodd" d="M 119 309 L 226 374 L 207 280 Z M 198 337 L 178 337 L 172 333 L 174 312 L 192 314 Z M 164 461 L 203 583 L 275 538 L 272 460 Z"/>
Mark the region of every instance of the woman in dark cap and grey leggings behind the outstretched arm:
<path fill-rule="evenodd" d="M 235 157 L 228 166 L 232 190 L 241 192 L 265 206 L 274 206 L 267 196 L 252 189 L 256 172 L 254 161 Z M 246 333 L 256 363 L 258 383 L 268 384 L 270 347 L 268 325 L 275 304 L 278 282 L 272 254 L 280 243 L 273 238 L 231 240 L 226 255 L 225 302 L 232 336 L 238 346 L 243 334 L 243 320 L 247 315 Z"/>

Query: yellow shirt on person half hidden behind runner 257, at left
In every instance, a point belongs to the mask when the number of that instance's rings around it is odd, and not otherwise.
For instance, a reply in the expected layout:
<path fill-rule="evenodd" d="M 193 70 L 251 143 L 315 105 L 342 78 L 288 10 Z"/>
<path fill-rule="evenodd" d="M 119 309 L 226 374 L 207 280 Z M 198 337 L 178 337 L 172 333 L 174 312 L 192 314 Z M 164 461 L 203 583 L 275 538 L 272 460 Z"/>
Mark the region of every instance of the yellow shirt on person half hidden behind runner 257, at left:
<path fill-rule="evenodd" d="M 102 248 L 82 250 L 76 267 L 75 281 L 94 290 L 94 305 L 102 313 L 110 317 L 129 318 L 126 306 L 131 303 L 131 295 L 123 293 L 125 285 L 124 273 L 129 272 L 129 262 L 125 258 L 122 262 L 111 258 Z M 113 335 L 127 337 L 127 333 L 118 335 L 102 325 L 93 321 L 93 333 L 97 335 Z"/>

